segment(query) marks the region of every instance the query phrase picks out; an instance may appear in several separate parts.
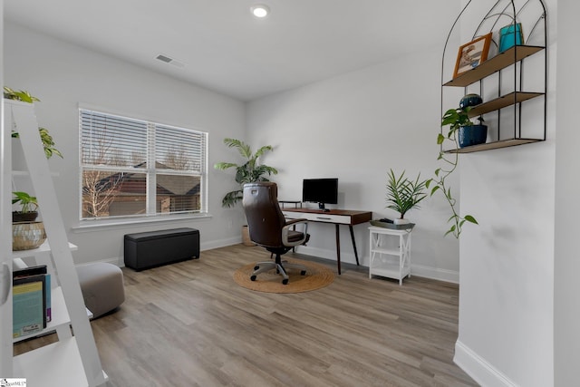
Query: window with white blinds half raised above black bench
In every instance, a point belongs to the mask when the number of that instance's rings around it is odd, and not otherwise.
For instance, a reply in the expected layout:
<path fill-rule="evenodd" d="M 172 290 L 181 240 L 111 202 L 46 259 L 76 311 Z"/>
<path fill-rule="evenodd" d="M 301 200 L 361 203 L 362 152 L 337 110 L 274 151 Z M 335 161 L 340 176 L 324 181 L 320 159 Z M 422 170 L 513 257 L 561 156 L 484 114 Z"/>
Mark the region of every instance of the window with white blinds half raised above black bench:
<path fill-rule="evenodd" d="M 208 133 L 81 109 L 81 219 L 207 212 Z"/>

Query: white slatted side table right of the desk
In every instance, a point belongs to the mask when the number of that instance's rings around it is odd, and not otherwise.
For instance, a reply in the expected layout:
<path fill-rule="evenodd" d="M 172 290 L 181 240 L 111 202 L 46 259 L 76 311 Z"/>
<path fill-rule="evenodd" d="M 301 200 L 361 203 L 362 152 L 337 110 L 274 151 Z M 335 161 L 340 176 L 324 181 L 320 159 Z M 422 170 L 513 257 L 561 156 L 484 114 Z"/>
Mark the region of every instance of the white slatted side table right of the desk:
<path fill-rule="evenodd" d="M 409 226 L 407 229 L 400 228 L 401 226 L 369 227 L 371 232 L 369 278 L 372 278 L 372 275 L 386 276 L 398 279 L 399 285 L 402 285 L 402 279 L 411 276 L 411 232 L 414 225 Z"/>

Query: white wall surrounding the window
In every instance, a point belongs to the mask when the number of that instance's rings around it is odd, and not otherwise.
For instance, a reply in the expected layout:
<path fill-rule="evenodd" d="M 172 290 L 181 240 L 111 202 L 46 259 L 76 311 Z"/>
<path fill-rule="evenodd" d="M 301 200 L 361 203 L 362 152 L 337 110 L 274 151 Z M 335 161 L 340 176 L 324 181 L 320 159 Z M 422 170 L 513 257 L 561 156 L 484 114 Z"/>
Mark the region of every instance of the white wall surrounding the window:
<path fill-rule="evenodd" d="M 200 230 L 201 247 L 217 247 L 241 240 L 241 209 L 222 209 L 221 198 L 236 187 L 231 174 L 213 169 L 217 161 L 236 153 L 221 142 L 244 138 L 245 106 L 232 98 L 152 73 L 82 47 L 5 24 L 5 84 L 40 98 L 39 124 L 53 134 L 64 159 L 50 160 L 67 227 L 79 224 L 78 103 L 89 103 L 135 118 L 194 128 L 209 133 L 209 213 L 211 218 L 132 227 L 69 231 L 79 246 L 77 263 L 111 261 L 122 264 L 123 235 L 172 227 Z M 42 212 L 42 208 L 41 208 Z"/>

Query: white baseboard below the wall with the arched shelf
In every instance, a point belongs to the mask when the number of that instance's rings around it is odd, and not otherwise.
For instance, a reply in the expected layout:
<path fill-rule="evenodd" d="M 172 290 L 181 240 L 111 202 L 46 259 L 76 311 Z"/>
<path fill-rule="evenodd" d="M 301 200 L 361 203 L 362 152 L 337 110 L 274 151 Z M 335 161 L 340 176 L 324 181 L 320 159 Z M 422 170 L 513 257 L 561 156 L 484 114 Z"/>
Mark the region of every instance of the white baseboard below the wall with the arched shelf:
<path fill-rule="evenodd" d="M 517 387 L 515 382 L 510 381 L 506 375 L 499 372 L 478 353 L 473 352 L 459 340 L 455 343 L 453 362 L 482 386 Z"/>

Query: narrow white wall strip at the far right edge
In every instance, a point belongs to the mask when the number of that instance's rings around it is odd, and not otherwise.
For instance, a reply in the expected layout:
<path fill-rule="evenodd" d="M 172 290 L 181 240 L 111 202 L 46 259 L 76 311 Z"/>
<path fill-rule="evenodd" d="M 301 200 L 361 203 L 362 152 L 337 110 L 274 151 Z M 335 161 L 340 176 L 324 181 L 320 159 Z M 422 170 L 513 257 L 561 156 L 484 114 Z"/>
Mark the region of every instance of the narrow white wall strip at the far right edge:
<path fill-rule="evenodd" d="M 574 47 L 577 34 L 570 34 L 580 15 L 577 1 L 558 1 L 557 38 L 560 47 Z M 580 78 L 575 63 L 578 50 L 557 52 L 557 133 L 556 133 L 556 251 L 554 275 L 554 363 L 555 385 L 571 386 L 580 380 L 580 259 L 578 227 L 580 218 L 580 180 L 575 178 L 580 165 L 580 131 L 577 130 L 576 95 Z"/>

